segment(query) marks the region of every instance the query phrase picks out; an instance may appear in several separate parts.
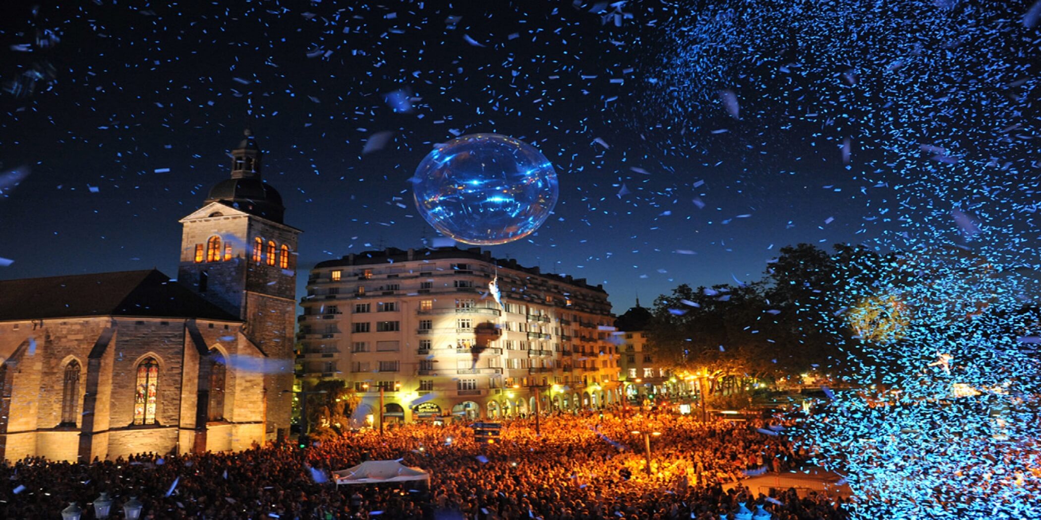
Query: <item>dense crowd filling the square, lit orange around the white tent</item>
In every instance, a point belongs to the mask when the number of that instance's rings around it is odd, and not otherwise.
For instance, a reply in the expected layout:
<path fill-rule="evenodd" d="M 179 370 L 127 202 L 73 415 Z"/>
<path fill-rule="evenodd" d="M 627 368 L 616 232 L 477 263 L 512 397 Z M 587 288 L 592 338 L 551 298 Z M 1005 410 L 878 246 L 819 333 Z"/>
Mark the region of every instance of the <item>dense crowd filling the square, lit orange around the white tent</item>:
<path fill-rule="evenodd" d="M 475 442 L 464 424 L 410 424 L 303 449 L 93 464 L 28 459 L 0 471 L 0 518 L 53 519 L 69 501 L 94 518 L 85 504 L 102 491 L 113 496 L 113 509 L 136 495 L 147 519 L 718 520 L 739 502 L 763 504 L 779 520 L 847 518 L 841 498 L 799 498 L 794 490 L 767 498 L 740 485 L 725 492 L 723 484 L 748 470 L 786 471 L 807 458 L 784 435 L 756 426 L 766 424 L 608 413 L 544 417 L 541 436 L 531 419 L 513 420 L 493 444 Z M 643 438 L 633 430 L 661 434 L 651 441 L 650 475 Z M 429 489 L 414 482 L 337 489 L 330 472 L 366 459 L 401 459 L 429 471 Z"/>

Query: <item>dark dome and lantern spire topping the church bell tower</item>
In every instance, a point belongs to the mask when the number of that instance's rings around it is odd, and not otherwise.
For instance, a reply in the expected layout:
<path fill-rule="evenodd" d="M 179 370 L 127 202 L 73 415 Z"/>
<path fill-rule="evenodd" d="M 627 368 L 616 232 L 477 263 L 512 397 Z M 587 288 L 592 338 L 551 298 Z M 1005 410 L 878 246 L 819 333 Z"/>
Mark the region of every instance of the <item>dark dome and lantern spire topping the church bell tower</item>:
<path fill-rule="evenodd" d="M 285 214 L 282 196 L 260 178 L 263 152 L 250 129 L 247 128 L 244 134 L 238 148 L 231 151 L 231 178 L 210 188 L 205 204 L 220 202 L 282 224 Z"/>

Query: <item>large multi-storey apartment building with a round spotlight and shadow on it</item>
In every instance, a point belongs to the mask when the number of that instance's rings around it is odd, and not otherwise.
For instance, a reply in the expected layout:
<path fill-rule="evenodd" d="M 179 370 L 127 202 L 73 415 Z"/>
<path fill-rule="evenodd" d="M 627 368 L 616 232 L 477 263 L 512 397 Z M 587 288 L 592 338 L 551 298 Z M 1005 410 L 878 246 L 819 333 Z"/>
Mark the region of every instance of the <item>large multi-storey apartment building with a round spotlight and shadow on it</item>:
<path fill-rule="evenodd" d="M 381 388 L 383 414 L 406 421 L 602 408 L 620 396 L 603 287 L 479 248 L 322 262 L 301 306 L 304 387 L 344 380 L 362 396 L 355 417 L 380 414 Z"/>

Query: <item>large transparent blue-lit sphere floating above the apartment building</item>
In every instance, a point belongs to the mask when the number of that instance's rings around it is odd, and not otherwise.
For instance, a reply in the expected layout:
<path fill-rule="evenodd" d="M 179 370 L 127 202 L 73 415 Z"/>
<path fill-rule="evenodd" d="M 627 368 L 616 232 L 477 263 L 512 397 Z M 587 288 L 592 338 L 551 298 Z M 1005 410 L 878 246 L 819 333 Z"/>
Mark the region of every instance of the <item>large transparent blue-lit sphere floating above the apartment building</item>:
<path fill-rule="evenodd" d="M 550 216 L 559 189 L 538 150 L 494 133 L 438 146 L 415 168 L 415 206 L 437 231 L 475 245 L 530 235 Z"/>

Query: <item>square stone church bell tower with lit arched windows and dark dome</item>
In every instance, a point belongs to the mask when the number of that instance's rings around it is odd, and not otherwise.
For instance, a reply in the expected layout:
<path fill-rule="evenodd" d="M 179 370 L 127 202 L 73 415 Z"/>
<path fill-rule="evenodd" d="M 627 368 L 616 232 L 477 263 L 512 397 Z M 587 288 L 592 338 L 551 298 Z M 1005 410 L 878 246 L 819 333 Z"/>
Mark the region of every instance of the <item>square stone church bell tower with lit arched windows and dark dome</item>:
<path fill-rule="evenodd" d="M 177 279 L 246 322 L 245 335 L 266 356 L 268 438 L 288 434 L 293 402 L 297 239 L 282 222 L 282 197 L 260 176 L 263 152 L 250 130 L 231 151 L 231 176 L 201 208 L 181 218 Z"/>

